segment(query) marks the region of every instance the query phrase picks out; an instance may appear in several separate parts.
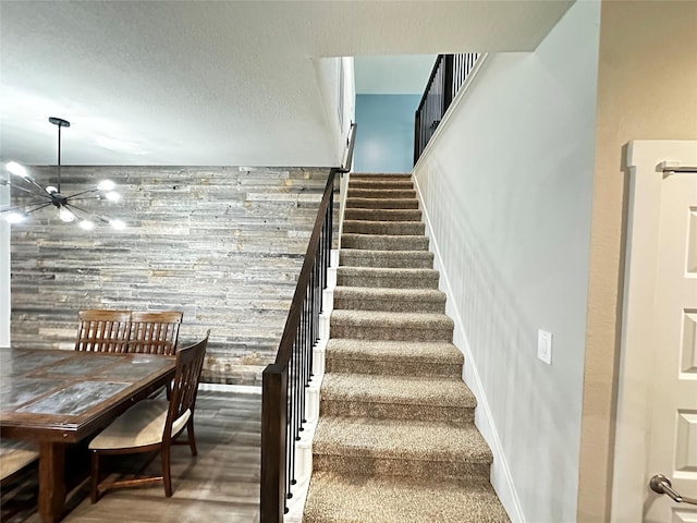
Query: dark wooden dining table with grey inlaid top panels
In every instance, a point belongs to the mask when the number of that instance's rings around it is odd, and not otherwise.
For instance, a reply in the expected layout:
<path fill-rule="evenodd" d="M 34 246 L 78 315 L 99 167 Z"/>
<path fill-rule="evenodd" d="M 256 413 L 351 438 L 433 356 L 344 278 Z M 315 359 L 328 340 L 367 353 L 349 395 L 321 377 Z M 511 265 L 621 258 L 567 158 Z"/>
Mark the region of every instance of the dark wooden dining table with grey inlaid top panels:
<path fill-rule="evenodd" d="M 65 449 L 174 377 L 174 356 L 0 349 L 0 436 L 39 449 L 41 521 L 63 516 Z"/>

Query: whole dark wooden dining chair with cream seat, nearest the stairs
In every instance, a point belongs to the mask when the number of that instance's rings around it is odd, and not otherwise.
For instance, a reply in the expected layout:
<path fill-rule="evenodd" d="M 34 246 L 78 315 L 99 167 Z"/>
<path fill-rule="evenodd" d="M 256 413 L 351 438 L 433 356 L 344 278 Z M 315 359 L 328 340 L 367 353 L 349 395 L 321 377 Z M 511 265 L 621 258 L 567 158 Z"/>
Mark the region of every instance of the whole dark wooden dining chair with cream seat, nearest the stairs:
<path fill-rule="evenodd" d="M 91 454 L 91 502 L 101 495 L 118 487 L 163 482 L 164 495 L 172 496 L 170 472 L 170 448 L 176 437 L 186 429 L 192 455 L 197 454 L 194 435 L 194 409 L 198 380 L 204 366 L 206 346 L 210 330 L 198 343 L 176 352 L 176 370 L 170 400 L 143 400 L 113 421 L 89 443 Z M 162 475 L 135 477 L 131 479 L 100 481 L 99 459 L 102 454 L 134 454 L 158 452 Z"/>

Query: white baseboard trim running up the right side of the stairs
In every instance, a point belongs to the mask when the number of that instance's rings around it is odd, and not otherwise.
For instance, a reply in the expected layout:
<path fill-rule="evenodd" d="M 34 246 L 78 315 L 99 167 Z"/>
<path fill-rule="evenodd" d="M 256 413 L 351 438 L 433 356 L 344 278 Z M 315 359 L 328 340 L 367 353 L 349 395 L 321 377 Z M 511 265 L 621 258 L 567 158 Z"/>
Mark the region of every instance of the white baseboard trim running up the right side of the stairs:
<path fill-rule="evenodd" d="M 493 416 L 489 402 L 484 392 L 484 386 L 481 377 L 477 369 L 477 364 L 473 357 L 472 349 L 465 333 L 464 324 L 460 311 L 454 304 L 453 292 L 450 285 L 450 278 L 448 277 L 448 270 L 444 268 L 438 242 L 433 235 L 433 229 L 428 216 L 428 209 L 424 205 L 424 195 L 418 185 L 416 177 L 414 177 L 414 186 L 416 187 L 416 194 L 421 209 L 424 222 L 426 224 L 426 235 L 430 240 L 430 251 L 433 253 L 433 268 L 440 271 L 440 290 L 448 296 L 445 313 L 453 319 L 455 324 L 453 332 L 453 344 L 465 356 L 465 365 L 463 366 L 463 380 L 469 387 L 472 392 L 477 398 L 477 409 L 475 410 L 475 425 L 481 433 L 481 436 L 491 448 L 493 454 L 493 463 L 491 465 L 490 482 L 496 490 L 501 503 L 505 508 L 511 521 L 513 523 L 525 523 L 523 515 L 523 509 L 521 507 L 521 500 L 515 490 L 513 483 L 513 476 L 511 475 L 511 469 L 503 452 L 503 446 L 499 438 L 496 424 L 493 423 Z"/>

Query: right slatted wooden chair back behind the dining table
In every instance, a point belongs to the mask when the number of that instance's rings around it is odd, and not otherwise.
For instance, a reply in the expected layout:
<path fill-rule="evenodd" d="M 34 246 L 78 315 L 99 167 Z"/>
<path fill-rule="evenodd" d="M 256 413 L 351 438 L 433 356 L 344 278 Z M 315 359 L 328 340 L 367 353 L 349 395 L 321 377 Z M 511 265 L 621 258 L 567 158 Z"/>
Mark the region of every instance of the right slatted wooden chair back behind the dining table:
<path fill-rule="evenodd" d="M 179 327 L 184 313 L 167 311 L 161 313 L 131 313 L 129 352 L 172 355 L 176 351 Z"/>

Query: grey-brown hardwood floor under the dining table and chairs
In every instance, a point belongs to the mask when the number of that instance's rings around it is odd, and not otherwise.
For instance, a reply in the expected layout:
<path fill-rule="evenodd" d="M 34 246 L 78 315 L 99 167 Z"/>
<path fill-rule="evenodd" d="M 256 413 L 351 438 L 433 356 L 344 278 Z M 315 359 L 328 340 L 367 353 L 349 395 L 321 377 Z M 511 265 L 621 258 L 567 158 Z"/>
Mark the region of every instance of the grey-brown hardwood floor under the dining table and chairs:
<path fill-rule="evenodd" d="M 89 481 L 69 496 L 65 523 L 256 523 L 259 521 L 259 463 L 261 442 L 261 396 L 199 391 L 196 400 L 198 457 L 186 446 L 172 449 L 174 495 L 164 497 L 160 484 L 109 490 L 96 504 L 89 501 Z M 159 474 L 157 458 L 146 473 Z M 36 513 L 35 479 L 29 477 L 24 494 L 5 500 L 3 523 L 40 523 Z M 34 485 L 32 485 L 34 483 Z M 29 509 L 9 516 L 10 504 L 22 496 Z"/>

